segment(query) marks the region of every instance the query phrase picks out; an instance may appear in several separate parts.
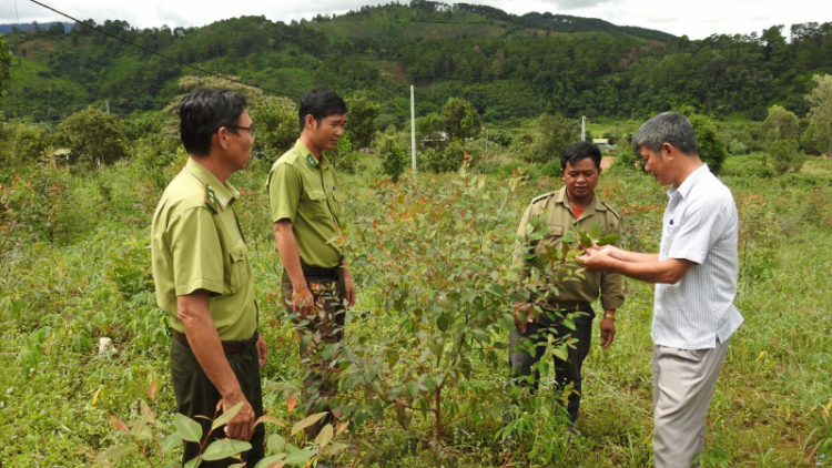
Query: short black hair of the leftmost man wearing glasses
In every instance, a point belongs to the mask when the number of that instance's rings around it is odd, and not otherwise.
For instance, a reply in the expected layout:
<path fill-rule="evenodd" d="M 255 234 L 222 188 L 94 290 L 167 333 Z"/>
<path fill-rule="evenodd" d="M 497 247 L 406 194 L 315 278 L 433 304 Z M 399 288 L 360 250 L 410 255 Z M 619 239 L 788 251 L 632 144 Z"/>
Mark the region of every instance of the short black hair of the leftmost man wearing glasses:
<path fill-rule="evenodd" d="M 211 136 L 234 125 L 245 112 L 245 98 L 227 90 L 197 89 L 179 102 L 180 136 L 185 151 L 207 156 Z M 234 133 L 236 130 L 232 129 Z"/>

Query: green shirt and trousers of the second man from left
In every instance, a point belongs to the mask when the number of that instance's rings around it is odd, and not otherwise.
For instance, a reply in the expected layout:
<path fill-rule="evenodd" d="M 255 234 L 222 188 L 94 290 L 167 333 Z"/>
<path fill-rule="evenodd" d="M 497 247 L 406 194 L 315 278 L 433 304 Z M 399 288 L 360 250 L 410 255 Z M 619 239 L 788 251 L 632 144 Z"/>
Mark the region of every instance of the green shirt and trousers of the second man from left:
<path fill-rule="evenodd" d="M 292 222 L 301 265 L 315 302 L 317 315 L 296 319 L 296 324 L 301 354 L 307 367 L 304 377 L 306 409 L 310 414 L 318 413 L 328 409 L 328 400 L 337 394 L 337 375 L 326 369 L 321 355 L 326 346 L 337 346 L 344 336 L 343 255 L 333 242 L 343 215 L 343 197 L 333 165 L 324 155 L 316 161 L 300 140 L 272 165 L 266 191 L 272 222 Z M 281 292 L 292 314 L 293 287 L 285 271 Z M 317 434 L 328 421 L 322 419 L 310 434 Z"/>

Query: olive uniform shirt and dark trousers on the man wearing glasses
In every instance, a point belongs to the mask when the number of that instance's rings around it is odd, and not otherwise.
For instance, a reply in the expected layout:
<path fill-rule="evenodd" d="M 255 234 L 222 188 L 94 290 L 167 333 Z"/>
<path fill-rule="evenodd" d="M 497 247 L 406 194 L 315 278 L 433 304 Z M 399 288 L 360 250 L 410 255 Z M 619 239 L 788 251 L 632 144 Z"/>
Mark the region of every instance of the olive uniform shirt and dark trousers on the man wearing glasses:
<path fill-rule="evenodd" d="M 159 306 L 168 313 L 174 334 L 185 329 L 176 315 L 176 297 L 207 291 L 209 313 L 220 339 L 242 344 L 226 354 L 229 364 L 257 417 L 263 415 L 256 347 L 257 308 L 254 278 L 234 208 L 240 193 L 221 183 L 193 157 L 171 181 L 153 214 L 151 253 Z M 191 418 L 213 417 L 220 393 L 211 384 L 187 345 L 171 340 L 171 373 L 179 413 Z M 206 433 L 211 424 L 196 419 Z M 252 461 L 263 451 L 263 427 L 255 428 Z M 222 430 L 215 433 L 223 437 Z M 257 446 L 258 445 L 258 446 Z M 184 461 L 199 451 L 185 444 Z M 183 465 L 184 465 L 183 461 Z M 255 461 L 256 462 L 256 461 Z M 205 464 L 203 464 L 205 465 Z M 203 466 L 201 465 L 201 466 Z M 227 462 L 220 460 L 217 465 Z"/>

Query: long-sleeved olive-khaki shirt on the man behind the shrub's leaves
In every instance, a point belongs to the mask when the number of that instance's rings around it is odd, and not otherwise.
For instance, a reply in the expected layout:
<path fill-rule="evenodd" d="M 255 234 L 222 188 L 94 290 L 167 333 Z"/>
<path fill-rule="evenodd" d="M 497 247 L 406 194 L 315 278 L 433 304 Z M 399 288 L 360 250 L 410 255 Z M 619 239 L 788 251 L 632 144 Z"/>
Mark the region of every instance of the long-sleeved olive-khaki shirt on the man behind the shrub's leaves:
<path fill-rule="evenodd" d="M 562 246 L 560 237 L 571 232 L 575 225 L 582 232 L 589 232 L 596 225 L 601 236 L 611 233 L 620 234 L 621 231 L 618 213 L 603 203 L 597 194 L 592 197 L 589 206 L 584 210 L 580 218 L 576 220 L 566 196 L 566 187 L 532 200 L 522 215 L 520 227 L 517 230 L 518 235 L 526 236 L 526 226 L 531 222 L 532 216 L 541 216 L 541 223 L 546 223 L 546 236 L 534 245 L 518 244 L 515 248 L 514 265 L 519 268 L 521 279 L 528 277 L 529 269 L 535 265 L 537 257 L 545 255 L 549 250 L 556 250 L 555 252 L 560 251 Z M 531 261 L 524 258 L 524 254 L 529 253 L 536 255 L 536 258 Z M 538 266 L 538 268 L 542 271 L 541 266 Z M 601 306 L 605 309 L 621 307 L 623 304 L 621 275 L 617 273 L 585 271 L 584 276 L 584 281 L 561 283 L 562 291 L 556 297 L 559 307 L 572 308 L 576 304 L 592 303 L 598 298 L 599 291 L 601 294 Z M 552 279 L 557 281 L 559 278 Z"/>

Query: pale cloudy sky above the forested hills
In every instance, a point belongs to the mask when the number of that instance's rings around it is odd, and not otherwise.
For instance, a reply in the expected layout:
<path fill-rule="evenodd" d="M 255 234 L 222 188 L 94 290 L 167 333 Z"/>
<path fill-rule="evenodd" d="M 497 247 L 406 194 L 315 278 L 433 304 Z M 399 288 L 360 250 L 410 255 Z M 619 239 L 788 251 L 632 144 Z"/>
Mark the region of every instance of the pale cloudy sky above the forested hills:
<path fill-rule="evenodd" d="M 39 0 L 41 1 L 41 0 Z M 399 0 L 403 4 L 409 0 Z M 168 24 L 205 26 L 240 16 L 263 14 L 272 21 L 311 19 L 321 14 L 344 13 L 365 4 L 387 1 L 373 0 L 42 0 L 43 3 L 79 19 L 97 22 L 119 19 L 138 28 Z M 466 3 L 487 4 L 509 13 L 530 11 L 600 18 L 618 26 L 658 29 L 674 35 L 703 39 L 711 34 L 748 34 L 784 24 L 789 37 L 792 23 L 832 21 L 829 0 L 465 0 Z M 451 3 L 451 2 L 448 2 Z M 30 0 L 0 0 L 0 23 L 60 21 L 62 17 Z M 69 21 L 63 19 L 64 21 Z"/>

